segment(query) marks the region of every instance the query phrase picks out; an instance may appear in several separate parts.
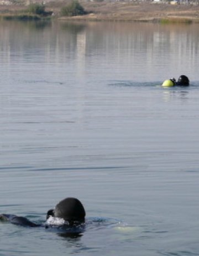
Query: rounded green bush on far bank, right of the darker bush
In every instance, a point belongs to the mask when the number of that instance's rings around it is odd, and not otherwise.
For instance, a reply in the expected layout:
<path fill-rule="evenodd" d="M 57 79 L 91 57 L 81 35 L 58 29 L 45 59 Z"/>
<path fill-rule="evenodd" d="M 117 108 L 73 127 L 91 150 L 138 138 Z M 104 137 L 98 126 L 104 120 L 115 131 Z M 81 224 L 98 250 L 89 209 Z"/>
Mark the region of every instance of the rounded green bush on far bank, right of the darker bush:
<path fill-rule="evenodd" d="M 77 0 L 61 8 L 61 16 L 77 16 L 83 14 L 86 14 L 85 9 Z"/>

